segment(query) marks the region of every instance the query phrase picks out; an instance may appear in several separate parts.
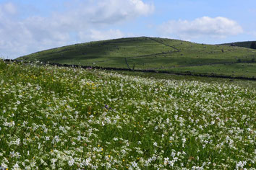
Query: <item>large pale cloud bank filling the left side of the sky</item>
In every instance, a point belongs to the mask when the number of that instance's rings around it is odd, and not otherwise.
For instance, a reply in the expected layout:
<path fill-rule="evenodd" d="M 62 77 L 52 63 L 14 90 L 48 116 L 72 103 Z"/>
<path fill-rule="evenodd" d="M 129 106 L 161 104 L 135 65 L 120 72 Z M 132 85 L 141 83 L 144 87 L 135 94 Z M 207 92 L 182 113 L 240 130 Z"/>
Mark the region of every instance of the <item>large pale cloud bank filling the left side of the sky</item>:
<path fill-rule="evenodd" d="M 20 10 L 19 10 L 20 9 Z M 64 12 L 49 17 L 20 17 L 25 9 L 11 2 L 0 4 L 0 55 L 20 55 L 89 40 L 123 37 L 109 26 L 147 16 L 153 4 L 142 0 L 69 0 Z"/>

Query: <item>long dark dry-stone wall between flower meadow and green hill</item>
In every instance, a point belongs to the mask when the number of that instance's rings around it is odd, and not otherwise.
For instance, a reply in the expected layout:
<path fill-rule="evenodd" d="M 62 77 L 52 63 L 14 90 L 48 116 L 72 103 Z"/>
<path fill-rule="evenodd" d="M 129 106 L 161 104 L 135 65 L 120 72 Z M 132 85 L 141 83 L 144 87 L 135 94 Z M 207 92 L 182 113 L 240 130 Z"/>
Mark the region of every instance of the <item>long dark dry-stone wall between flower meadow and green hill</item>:
<path fill-rule="evenodd" d="M 19 61 L 19 60 L 11 60 L 5 59 L 4 62 L 8 63 L 29 63 L 27 61 Z M 32 62 L 33 63 L 33 62 Z M 177 76 L 198 76 L 198 77 L 210 77 L 210 78 L 221 78 L 221 79 L 241 79 L 241 80 L 250 80 L 256 81 L 255 77 L 242 77 L 242 76 L 223 76 L 214 73 L 191 73 L 187 72 L 174 72 L 174 71 L 156 71 L 156 70 L 139 70 L 135 69 L 132 70 L 130 68 L 111 68 L 111 67 L 100 67 L 100 66 L 79 66 L 79 65 L 69 65 L 69 64 L 60 64 L 60 63 L 43 63 L 40 62 L 42 65 L 51 65 L 51 66 L 58 66 L 58 67 L 69 67 L 69 68 L 84 68 L 84 69 L 97 69 L 97 70 L 108 70 L 108 71 L 134 71 L 134 72 L 144 72 L 144 73 L 168 73 Z"/>

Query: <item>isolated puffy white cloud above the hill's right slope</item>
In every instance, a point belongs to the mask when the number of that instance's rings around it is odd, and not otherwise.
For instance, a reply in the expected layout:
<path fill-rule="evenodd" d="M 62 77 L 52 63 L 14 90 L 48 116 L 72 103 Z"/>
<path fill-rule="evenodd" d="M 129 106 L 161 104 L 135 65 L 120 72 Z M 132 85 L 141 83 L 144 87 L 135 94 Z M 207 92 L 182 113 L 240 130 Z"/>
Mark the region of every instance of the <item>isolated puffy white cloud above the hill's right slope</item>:
<path fill-rule="evenodd" d="M 200 37 L 225 38 L 243 32 L 242 27 L 237 22 L 225 17 L 201 17 L 193 21 L 171 20 L 163 23 L 160 30 L 166 35 L 183 40 Z"/>

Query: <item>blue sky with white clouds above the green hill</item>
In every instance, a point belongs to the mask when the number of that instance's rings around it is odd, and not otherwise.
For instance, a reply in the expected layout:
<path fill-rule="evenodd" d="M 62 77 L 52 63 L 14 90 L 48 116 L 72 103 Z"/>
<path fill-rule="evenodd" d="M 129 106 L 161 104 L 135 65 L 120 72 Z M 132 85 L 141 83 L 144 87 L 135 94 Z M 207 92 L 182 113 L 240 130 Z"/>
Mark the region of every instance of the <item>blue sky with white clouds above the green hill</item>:
<path fill-rule="evenodd" d="M 121 37 L 256 40 L 255 0 L 0 0 L 0 58 Z"/>

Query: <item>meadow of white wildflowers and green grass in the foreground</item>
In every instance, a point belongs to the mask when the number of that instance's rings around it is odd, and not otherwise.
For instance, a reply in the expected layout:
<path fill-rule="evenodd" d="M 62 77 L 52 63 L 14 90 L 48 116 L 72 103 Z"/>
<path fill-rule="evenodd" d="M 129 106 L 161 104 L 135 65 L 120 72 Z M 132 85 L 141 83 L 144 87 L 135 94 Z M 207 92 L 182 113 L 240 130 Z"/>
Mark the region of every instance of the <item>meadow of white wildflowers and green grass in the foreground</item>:
<path fill-rule="evenodd" d="M 0 61 L 0 166 L 255 169 L 256 89 Z"/>

